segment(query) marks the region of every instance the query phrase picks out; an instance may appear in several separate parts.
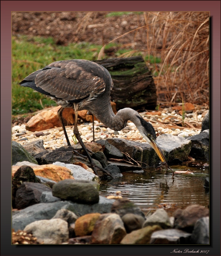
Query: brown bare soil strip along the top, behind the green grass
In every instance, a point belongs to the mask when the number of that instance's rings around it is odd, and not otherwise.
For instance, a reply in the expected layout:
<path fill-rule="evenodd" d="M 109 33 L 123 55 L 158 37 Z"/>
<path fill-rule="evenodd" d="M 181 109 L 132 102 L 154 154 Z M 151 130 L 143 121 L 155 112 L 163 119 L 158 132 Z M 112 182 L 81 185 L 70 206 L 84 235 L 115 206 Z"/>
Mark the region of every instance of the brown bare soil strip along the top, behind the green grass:
<path fill-rule="evenodd" d="M 145 25 L 144 15 L 106 17 L 108 12 L 13 12 L 12 34 L 51 36 L 58 45 L 90 42 L 103 45 Z M 123 47 L 146 49 L 146 28 L 121 37 Z M 112 54 L 113 55 L 113 54 Z"/>

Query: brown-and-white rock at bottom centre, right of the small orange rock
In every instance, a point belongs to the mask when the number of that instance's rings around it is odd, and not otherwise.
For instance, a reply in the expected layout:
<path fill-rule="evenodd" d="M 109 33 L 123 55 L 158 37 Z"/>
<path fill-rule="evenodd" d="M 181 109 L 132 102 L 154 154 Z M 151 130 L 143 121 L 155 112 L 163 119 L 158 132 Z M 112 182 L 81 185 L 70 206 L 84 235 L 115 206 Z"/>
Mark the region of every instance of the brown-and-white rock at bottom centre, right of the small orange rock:
<path fill-rule="evenodd" d="M 124 223 L 118 214 L 102 214 L 95 223 L 91 243 L 119 244 L 125 235 Z"/>

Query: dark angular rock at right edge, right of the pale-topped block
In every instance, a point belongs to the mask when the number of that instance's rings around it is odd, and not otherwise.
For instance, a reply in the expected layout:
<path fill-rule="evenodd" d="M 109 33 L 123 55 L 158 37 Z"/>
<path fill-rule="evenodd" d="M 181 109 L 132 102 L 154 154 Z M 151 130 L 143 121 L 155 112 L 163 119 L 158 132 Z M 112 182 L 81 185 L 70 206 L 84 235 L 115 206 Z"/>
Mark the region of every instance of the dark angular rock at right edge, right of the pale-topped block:
<path fill-rule="evenodd" d="M 209 133 L 201 132 L 199 134 L 187 137 L 191 141 L 191 151 L 189 155 L 197 160 L 209 160 Z"/>

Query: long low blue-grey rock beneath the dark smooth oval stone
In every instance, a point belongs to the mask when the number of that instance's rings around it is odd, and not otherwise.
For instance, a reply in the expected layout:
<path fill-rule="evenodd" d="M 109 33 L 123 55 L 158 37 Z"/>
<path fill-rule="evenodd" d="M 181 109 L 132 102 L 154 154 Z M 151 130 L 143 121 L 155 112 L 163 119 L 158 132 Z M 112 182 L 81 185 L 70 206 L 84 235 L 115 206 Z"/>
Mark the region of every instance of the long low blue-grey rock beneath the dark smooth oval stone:
<path fill-rule="evenodd" d="M 81 203 L 73 203 L 71 201 L 56 201 L 51 203 L 39 203 L 29 206 L 25 209 L 17 211 L 12 216 L 12 228 L 15 230 L 24 230 L 28 224 L 43 219 L 51 219 L 55 216 L 58 210 L 68 209 L 74 212 L 77 216 L 82 216 L 88 213 L 108 213 L 111 211 L 111 206 L 115 202 L 113 199 L 99 197 L 99 202 L 89 205 Z"/>

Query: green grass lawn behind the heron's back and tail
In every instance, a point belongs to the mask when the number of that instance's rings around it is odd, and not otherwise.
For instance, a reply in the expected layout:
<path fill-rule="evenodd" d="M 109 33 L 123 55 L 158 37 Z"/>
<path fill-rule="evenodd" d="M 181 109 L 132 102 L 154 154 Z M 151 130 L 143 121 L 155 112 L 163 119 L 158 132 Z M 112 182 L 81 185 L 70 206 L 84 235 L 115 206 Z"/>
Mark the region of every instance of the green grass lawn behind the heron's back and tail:
<path fill-rule="evenodd" d="M 110 43 L 105 49 L 117 46 L 116 56 L 122 55 L 131 49 L 121 49 L 120 45 Z M 12 38 L 12 114 L 25 114 L 42 109 L 43 107 L 56 106 L 53 100 L 28 87 L 19 85 L 26 76 L 43 68 L 54 61 L 65 59 L 96 60 L 102 46 L 86 42 L 58 46 L 53 38 L 13 36 Z M 133 54 L 134 55 L 134 54 Z M 135 55 L 140 55 L 136 53 Z M 108 55 L 104 55 L 108 58 Z M 152 56 L 144 56 L 145 60 L 160 61 Z"/>

